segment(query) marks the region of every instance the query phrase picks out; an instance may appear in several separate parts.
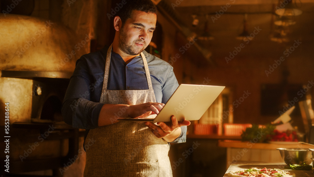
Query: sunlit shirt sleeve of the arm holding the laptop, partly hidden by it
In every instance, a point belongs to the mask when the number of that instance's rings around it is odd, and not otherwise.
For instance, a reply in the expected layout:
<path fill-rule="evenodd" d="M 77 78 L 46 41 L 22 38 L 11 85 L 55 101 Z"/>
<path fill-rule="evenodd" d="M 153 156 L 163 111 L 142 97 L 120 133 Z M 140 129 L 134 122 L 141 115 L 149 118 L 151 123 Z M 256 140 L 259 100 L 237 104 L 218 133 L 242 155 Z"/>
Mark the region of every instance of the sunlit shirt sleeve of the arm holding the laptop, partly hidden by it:
<path fill-rule="evenodd" d="M 162 96 L 162 103 L 166 103 L 169 100 L 169 98 L 176 91 L 178 86 L 179 86 L 178 81 L 177 81 L 176 76 L 173 72 L 173 67 L 171 66 L 169 71 L 168 71 L 168 74 L 166 76 L 165 83 L 162 87 L 162 95 L 163 95 Z M 180 128 L 181 128 L 180 136 L 175 141 L 172 141 L 170 143 L 186 142 L 187 126 L 182 126 Z"/>

